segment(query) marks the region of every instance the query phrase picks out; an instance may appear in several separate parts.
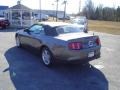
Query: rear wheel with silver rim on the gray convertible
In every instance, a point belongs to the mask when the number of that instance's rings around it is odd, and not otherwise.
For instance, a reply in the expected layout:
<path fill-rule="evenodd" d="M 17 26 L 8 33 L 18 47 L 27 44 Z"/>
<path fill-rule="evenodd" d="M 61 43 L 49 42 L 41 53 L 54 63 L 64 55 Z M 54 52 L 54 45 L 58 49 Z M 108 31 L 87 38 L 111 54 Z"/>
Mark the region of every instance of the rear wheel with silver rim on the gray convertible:
<path fill-rule="evenodd" d="M 46 66 L 51 66 L 53 64 L 53 55 L 51 51 L 44 47 L 41 52 L 41 59 Z"/>

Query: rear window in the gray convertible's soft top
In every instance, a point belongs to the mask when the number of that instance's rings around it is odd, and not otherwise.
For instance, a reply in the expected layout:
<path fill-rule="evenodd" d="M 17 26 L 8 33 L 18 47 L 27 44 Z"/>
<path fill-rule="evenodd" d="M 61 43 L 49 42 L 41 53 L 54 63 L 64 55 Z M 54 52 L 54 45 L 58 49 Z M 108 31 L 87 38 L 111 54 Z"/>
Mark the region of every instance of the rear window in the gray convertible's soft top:
<path fill-rule="evenodd" d="M 62 26 L 56 28 L 56 31 L 58 34 L 78 33 L 78 32 L 84 32 L 84 28 L 79 26 Z"/>

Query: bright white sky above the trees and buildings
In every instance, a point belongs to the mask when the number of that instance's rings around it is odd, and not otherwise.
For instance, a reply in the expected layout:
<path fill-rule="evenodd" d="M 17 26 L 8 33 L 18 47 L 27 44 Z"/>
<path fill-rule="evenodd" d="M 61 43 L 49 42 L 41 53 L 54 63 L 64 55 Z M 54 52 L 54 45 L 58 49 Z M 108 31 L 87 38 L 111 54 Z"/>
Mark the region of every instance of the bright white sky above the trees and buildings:
<path fill-rule="evenodd" d="M 53 10 L 55 9 L 55 1 L 56 0 L 41 0 L 42 9 Z M 62 5 L 62 1 L 59 3 L 59 10 L 63 10 L 64 6 Z M 67 0 L 67 13 L 77 13 L 79 11 L 79 0 Z M 81 0 L 81 7 L 85 5 L 85 1 Z M 94 5 L 97 6 L 99 4 L 103 4 L 103 6 L 109 7 L 117 7 L 120 6 L 120 0 L 92 0 Z M 9 7 L 16 5 L 17 0 L 0 0 L 0 5 L 7 5 Z M 31 9 L 39 9 L 39 0 L 21 0 L 23 5 Z M 52 5 L 54 3 L 54 5 Z"/>

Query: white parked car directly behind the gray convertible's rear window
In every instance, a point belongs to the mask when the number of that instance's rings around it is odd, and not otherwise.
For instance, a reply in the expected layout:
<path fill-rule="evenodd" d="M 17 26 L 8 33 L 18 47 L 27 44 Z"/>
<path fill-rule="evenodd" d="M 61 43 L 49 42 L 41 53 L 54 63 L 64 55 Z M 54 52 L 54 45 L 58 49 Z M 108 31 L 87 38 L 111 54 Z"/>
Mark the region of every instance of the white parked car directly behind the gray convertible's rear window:
<path fill-rule="evenodd" d="M 84 17 L 84 16 L 77 17 L 75 19 L 72 19 L 71 23 L 83 26 L 84 27 L 84 31 L 88 32 L 88 20 L 87 20 L 86 17 Z"/>

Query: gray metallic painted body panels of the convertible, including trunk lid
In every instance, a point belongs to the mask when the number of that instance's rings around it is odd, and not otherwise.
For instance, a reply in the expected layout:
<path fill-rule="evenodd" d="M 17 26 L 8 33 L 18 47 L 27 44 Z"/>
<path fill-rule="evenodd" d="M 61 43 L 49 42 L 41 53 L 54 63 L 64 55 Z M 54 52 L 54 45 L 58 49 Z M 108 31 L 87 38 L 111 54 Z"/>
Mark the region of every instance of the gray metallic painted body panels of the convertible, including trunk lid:
<path fill-rule="evenodd" d="M 95 52 L 95 56 L 100 56 L 100 45 L 93 47 L 86 47 L 84 45 L 81 50 L 70 50 L 68 48 L 69 42 L 77 41 L 86 44 L 88 39 L 91 38 L 91 40 L 95 40 L 98 38 L 98 36 L 93 36 L 88 33 L 70 33 L 53 37 L 40 34 L 36 35 L 20 30 L 16 34 L 22 45 L 32 47 L 38 51 L 43 45 L 47 46 L 52 52 L 55 60 L 71 61 L 88 59 L 88 53 L 91 51 Z"/>

